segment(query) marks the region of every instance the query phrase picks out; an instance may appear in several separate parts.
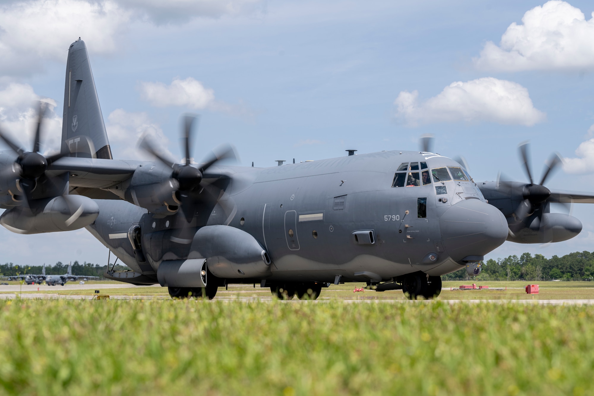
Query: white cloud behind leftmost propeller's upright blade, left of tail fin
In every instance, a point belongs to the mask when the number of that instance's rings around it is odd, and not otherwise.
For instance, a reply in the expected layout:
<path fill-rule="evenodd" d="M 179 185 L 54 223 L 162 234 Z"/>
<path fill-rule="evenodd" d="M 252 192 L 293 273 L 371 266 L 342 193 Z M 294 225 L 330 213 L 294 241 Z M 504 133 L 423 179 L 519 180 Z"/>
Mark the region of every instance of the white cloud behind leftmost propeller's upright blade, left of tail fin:
<path fill-rule="evenodd" d="M 0 128 L 12 137 L 24 150 L 33 149 L 33 137 L 37 127 L 38 100 L 48 103 L 40 139 L 42 153 L 59 152 L 62 139 L 62 117 L 54 112 L 56 102 L 42 98 L 29 84 L 11 83 L 0 90 Z M 6 147 L 4 142 L 2 147 Z"/>

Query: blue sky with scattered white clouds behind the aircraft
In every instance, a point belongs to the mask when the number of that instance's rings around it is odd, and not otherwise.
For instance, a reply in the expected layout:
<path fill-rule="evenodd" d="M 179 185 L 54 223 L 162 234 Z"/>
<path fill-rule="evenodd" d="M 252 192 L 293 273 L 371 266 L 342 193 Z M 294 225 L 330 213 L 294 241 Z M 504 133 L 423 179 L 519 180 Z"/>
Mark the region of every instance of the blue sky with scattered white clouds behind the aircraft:
<path fill-rule="evenodd" d="M 244 165 L 273 166 L 275 159 L 332 158 L 351 148 L 416 150 L 421 134 L 432 133 L 435 150 L 465 156 L 475 180 L 494 180 L 501 171 L 525 181 L 517 145 L 530 140 L 536 178 L 556 151 L 567 165 L 547 186 L 594 191 L 594 149 L 587 144 L 594 132 L 588 134 L 594 124 L 591 2 L 169 4 L 3 2 L 5 127 L 29 139 L 33 92 L 55 100 L 61 114 L 66 51 L 81 36 L 116 158 L 139 158 L 133 146 L 147 129 L 181 158 L 179 115 L 192 111 L 202 115 L 196 159 L 231 142 Z M 535 7 L 545 11 L 531 11 Z M 572 21 L 576 12 L 585 20 Z M 508 29 L 512 23 L 518 32 Z M 511 59 L 514 51 L 520 55 Z M 179 89 L 186 99 L 179 99 Z M 477 100 L 489 95 L 490 101 Z M 50 120 L 48 142 L 59 142 L 60 122 L 58 115 Z M 592 206 L 573 206 L 583 231 L 570 241 L 506 242 L 489 257 L 591 251 Z M 107 257 L 84 230 L 15 235 L 0 228 L 0 236 L 3 262 L 103 263 Z"/>

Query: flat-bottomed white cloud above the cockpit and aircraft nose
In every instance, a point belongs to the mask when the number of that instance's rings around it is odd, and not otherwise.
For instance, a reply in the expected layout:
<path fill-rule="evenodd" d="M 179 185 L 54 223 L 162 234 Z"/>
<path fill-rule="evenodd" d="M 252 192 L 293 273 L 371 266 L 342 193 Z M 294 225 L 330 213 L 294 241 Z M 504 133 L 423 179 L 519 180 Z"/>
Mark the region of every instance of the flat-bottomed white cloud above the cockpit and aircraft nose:
<path fill-rule="evenodd" d="M 455 81 L 424 102 L 419 102 L 416 90 L 402 91 L 394 105 L 396 118 L 410 126 L 459 121 L 531 126 L 546 118 L 534 107 L 525 87 L 493 77 Z"/>

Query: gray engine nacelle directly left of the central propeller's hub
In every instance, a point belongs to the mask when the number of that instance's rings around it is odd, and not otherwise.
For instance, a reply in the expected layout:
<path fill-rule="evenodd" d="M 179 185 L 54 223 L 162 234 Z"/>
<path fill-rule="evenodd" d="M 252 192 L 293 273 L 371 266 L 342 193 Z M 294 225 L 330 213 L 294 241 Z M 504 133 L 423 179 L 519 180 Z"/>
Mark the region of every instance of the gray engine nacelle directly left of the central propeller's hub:
<path fill-rule="evenodd" d="M 170 168 L 161 164 L 138 166 L 125 193 L 125 199 L 157 215 L 178 212 L 177 180 L 171 178 Z"/>

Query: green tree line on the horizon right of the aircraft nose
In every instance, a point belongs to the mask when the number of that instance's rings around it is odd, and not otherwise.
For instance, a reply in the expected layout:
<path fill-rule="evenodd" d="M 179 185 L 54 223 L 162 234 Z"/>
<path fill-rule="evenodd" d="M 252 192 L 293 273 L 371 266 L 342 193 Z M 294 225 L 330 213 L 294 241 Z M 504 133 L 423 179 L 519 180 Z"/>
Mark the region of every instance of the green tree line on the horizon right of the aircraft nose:
<path fill-rule="evenodd" d="M 489 259 L 482 263 L 478 276 L 468 276 L 465 269 L 442 276 L 444 280 L 479 281 L 592 281 L 594 280 L 594 252 L 574 252 L 547 259 L 542 254 L 523 253 L 518 257 Z"/>

